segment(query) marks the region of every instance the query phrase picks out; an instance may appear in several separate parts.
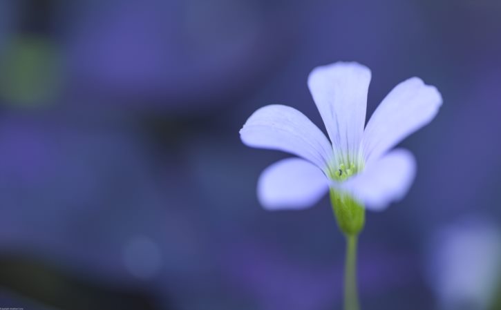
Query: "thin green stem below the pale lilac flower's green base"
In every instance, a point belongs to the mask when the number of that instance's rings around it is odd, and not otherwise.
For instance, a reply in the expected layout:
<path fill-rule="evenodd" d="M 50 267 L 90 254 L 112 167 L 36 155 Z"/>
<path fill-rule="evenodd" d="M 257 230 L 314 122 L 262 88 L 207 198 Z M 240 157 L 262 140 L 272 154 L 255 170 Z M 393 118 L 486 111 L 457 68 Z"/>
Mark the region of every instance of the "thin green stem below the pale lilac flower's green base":
<path fill-rule="evenodd" d="M 346 235 L 346 262 L 344 269 L 344 310 L 359 310 L 357 290 L 357 235 Z"/>

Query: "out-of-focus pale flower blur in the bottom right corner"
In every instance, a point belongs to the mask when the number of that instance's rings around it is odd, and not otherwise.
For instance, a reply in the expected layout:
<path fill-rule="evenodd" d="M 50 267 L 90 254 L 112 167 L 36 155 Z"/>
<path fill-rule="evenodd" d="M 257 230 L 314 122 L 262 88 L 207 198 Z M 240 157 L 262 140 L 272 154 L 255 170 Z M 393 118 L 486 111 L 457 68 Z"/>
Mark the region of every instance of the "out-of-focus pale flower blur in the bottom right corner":
<path fill-rule="evenodd" d="M 501 280 L 501 233 L 495 223 L 469 215 L 440 228 L 430 236 L 426 261 L 438 309 L 494 309 Z"/>

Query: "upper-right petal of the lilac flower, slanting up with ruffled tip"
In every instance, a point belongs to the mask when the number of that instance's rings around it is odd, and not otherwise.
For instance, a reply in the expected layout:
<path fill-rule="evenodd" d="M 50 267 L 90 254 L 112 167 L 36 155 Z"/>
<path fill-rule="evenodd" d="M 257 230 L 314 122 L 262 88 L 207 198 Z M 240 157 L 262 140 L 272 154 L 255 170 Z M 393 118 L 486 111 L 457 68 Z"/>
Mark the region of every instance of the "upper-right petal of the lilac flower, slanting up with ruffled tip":
<path fill-rule="evenodd" d="M 366 162 L 377 160 L 402 139 L 431 122 L 442 105 L 434 86 L 417 77 L 401 82 L 377 107 L 363 133 Z"/>

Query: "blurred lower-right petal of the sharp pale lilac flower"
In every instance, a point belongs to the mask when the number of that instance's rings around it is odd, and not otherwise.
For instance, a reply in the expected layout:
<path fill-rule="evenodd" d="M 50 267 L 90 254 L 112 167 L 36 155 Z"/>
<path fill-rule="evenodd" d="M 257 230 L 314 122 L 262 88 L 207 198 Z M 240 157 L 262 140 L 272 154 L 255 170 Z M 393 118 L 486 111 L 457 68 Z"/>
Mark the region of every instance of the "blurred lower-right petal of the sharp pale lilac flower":
<path fill-rule="evenodd" d="M 397 149 L 340 185 L 361 200 L 367 209 L 380 211 L 406 195 L 415 173 L 414 156 L 409 151 Z"/>

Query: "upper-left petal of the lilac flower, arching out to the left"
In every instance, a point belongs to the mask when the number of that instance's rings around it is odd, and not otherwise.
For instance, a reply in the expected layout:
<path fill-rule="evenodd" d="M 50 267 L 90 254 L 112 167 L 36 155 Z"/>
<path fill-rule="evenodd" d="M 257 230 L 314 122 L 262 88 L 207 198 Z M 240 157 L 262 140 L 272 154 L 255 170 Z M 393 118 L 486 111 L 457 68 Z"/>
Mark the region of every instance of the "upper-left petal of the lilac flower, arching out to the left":
<path fill-rule="evenodd" d="M 247 146 L 285 151 L 327 171 L 332 146 L 322 131 L 295 108 L 272 104 L 254 112 L 240 129 Z"/>

